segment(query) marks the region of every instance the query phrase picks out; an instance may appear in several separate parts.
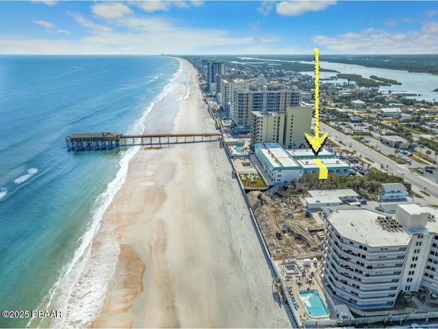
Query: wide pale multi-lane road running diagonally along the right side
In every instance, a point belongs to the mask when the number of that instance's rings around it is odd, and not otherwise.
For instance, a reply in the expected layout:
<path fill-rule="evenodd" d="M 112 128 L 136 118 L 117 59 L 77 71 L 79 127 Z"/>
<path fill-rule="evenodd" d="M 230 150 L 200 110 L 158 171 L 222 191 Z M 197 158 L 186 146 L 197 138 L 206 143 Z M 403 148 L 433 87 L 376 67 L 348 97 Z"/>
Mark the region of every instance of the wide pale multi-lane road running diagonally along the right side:
<path fill-rule="evenodd" d="M 411 183 L 413 191 L 423 197 L 422 199 L 415 198 L 416 202 L 420 202 L 422 204 L 438 204 L 437 183 L 431 182 L 421 173 L 411 171 L 409 168 L 407 168 L 406 164 L 398 164 L 394 162 L 383 154 L 379 154 L 373 149 L 362 145 L 361 143 L 352 139 L 350 136 L 342 134 L 342 132 L 338 132 L 337 130 L 335 130 L 335 128 L 326 125 L 325 123 L 320 122 L 320 127 L 322 132 L 329 133 L 329 138 L 331 138 L 333 141 L 342 141 L 342 143 L 344 143 L 346 147 L 349 147 L 349 145 L 351 145 L 351 149 L 357 151 L 357 155 L 361 154 L 363 158 L 366 157 L 373 160 L 374 163 L 372 163 L 372 167 L 380 170 L 381 164 L 383 164 L 383 170 L 387 170 L 389 173 L 394 173 L 395 175 L 402 176 L 404 180 Z M 420 191 L 426 191 L 430 194 L 430 197 L 424 195 Z"/>

